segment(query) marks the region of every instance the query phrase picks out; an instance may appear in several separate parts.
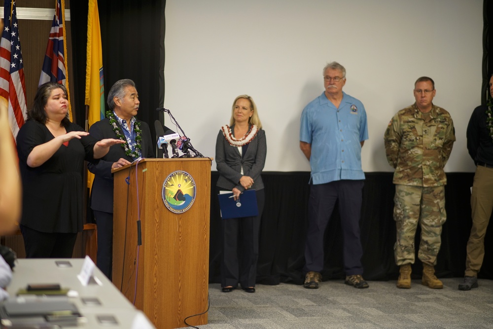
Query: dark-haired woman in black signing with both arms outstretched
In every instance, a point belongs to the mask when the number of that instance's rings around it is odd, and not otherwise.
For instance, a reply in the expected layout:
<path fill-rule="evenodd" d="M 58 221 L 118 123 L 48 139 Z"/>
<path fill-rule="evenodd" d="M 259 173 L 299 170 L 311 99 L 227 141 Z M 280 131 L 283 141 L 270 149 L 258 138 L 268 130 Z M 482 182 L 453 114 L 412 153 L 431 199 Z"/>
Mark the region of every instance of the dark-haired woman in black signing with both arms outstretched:
<path fill-rule="evenodd" d="M 83 227 L 84 160 L 121 140 L 97 141 L 70 122 L 65 86 L 47 82 L 17 135 L 23 186 L 20 229 L 28 258 L 70 258 Z"/>

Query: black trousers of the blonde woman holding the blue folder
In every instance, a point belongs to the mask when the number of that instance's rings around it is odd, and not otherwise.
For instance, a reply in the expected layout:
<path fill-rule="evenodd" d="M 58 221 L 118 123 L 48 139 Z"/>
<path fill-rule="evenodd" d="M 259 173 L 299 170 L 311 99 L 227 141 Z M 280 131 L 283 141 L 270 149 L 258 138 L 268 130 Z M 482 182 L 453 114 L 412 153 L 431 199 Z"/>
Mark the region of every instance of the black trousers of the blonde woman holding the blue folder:
<path fill-rule="evenodd" d="M 217 192 L 219 188 L 217 188 Z M 258 216 L 222 220 L 221 287 L 254 287 L 264 190 L 256 190 Z"/>

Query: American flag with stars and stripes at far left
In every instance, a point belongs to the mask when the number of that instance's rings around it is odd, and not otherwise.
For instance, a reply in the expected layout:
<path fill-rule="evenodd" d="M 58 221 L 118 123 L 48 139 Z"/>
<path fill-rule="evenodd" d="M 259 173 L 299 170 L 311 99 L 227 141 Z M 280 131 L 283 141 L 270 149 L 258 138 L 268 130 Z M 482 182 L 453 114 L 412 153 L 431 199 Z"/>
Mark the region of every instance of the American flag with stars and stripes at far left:
<path fill-rule="evenodd" d="M 14 139 L 27 118 L 26 84 L 15 2 L 3 4 L 3 32 L 0 41 L 0 102 L 8 103 L 8 119 Z"/>

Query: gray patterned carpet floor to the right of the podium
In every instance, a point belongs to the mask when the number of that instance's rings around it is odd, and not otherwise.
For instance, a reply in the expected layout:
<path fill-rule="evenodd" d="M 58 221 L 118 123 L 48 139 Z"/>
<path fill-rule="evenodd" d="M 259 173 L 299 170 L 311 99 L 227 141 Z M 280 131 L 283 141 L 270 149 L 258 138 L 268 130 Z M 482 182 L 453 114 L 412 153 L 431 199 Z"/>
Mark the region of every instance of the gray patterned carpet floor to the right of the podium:
<path fill-rule="evenodd" d="M 413 280 L 411 289 L 396 281 L 370 281 L 355 289 L 330 280 L 319 289 L 280 284 L 257 285 L 255 293 L 241 289 L 221 292 L 209 285 L 209 323 L 201 329 L 493 329 L 493 281 L 479 288 L 457 289 L 460 278 L 442 279 L 444 289 L 432 290 Z"/>

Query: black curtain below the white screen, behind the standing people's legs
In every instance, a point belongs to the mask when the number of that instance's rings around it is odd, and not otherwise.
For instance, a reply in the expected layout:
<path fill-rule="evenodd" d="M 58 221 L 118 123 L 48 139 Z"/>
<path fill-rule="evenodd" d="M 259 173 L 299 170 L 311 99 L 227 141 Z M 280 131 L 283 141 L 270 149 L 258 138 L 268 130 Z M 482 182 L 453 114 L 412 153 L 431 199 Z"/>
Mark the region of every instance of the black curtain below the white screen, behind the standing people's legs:
<path fill-rule="evenodd" d="M 364 277 L 367 280 L 396 280 L 393 246 L 392 173 L 365 173 L 361 209 L 361 241 L 363 245 Z M 212 172 L 211 185 L 211 249 L 210 276 L 220 283 L 220 219 L 217 196 L 213 195 L 219 175 Z M 310 186 L 308 172 L 266 172 L 265 208 L 260 228 L 260 248 L 257 283 L 275 285 L 280 282 L 302 284 L 304 275 L 304 246 L 307 227 L 307 205 Z M 465 268 L 466 243 L 471 229 L 470 186 L 473 173 L 449 173 L 445 187 L 447 221 L 442 231 L 442 247 L 435 266 L 438 277 L 462 277 Z M 227 219 L 226 219 L 227 220 Z M 342 259 L 341 219 L 336 207 L 325 232 L 325 263 L 323 280 L 344 278 Z M 420 228 L 416 234 L 419 246 Z M 492 230 L 485 239 L 486 255 L 480 278 L 493 278 Z M 417 248 L 418 249 L 418 248 Z M 413 265 L 413 278 L 419 279 L 423 265 L 418 259 Z"/>

